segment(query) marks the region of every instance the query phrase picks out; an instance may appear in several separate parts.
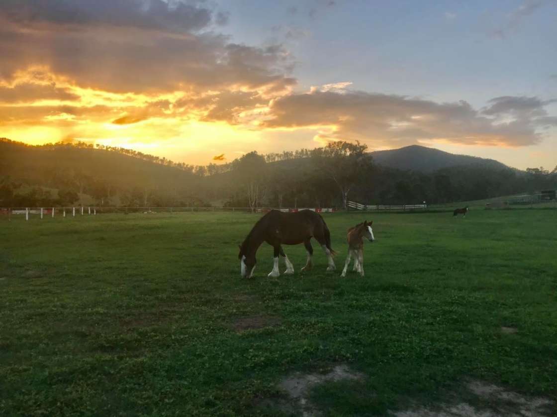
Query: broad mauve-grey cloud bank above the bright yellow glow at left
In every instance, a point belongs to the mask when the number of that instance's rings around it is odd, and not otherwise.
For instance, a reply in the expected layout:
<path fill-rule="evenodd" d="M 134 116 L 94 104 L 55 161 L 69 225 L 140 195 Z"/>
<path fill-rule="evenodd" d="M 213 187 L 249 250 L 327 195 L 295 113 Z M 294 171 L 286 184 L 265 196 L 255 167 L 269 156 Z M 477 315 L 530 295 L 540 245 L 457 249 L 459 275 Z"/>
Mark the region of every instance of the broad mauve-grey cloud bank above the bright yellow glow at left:
<path fill-rule="evenodd" d="M 45 65 L 79 85 L 109 91 L 285 87 L 290 57 L 278 45 L 227 43 L 224 36 L 179 35 L 130 28 L 85 31 L 0 29 L 0 77 Z"/>

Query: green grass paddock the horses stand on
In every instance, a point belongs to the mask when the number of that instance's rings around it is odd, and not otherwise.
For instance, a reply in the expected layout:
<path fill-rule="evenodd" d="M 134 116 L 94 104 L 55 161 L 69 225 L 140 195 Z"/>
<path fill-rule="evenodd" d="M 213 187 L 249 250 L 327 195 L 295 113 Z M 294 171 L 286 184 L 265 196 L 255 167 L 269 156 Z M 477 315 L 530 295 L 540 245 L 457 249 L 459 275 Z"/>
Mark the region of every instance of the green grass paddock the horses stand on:
<path fill-rule="evenodd" d="M 335 273 L 315 243 L 310 273 L 285 246 L 296 274 L 267 278 L 263 245 L 251 280 L 237 253 L 258 215 L 2 221 L 0 415 L 280 415 L 284 377 L 340 364 L 364 377 L 313 387 L 325 415 L 436 404 L 468 379 L 557 397 L 557 211 L 324 217 Z M 342 279 L 366 218 L 366 276 Z"/>

